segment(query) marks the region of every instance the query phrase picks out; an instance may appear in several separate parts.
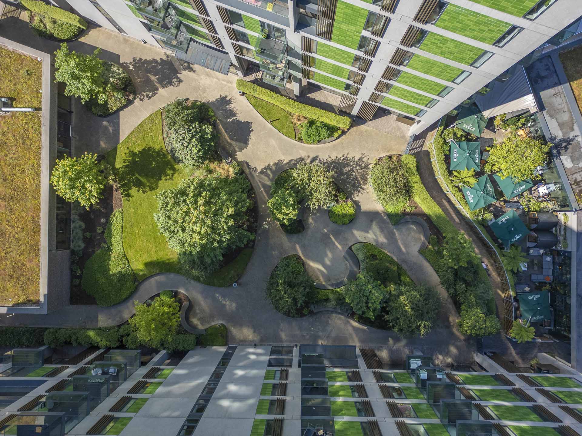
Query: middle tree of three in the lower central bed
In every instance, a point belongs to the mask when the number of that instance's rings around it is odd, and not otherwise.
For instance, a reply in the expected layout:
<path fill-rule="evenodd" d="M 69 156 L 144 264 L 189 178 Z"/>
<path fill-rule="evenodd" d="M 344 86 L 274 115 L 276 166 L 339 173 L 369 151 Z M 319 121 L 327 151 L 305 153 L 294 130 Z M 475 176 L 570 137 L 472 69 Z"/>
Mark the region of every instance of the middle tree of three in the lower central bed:
<path fill-rule="evenodd" d="M 386 288 L 365 273 L 358 274 L 356 280 L 343 289 L 343 296 L 354 312 L 372 320 L 380 313 L 386 295 Z"/>

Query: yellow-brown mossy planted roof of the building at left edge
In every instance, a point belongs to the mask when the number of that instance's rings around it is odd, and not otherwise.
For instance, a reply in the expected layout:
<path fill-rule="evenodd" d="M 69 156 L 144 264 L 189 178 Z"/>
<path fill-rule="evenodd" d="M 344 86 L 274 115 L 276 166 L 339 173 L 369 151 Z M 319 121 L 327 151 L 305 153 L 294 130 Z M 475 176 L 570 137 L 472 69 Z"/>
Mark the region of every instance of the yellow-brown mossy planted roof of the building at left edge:
<path fill-rule="evenodd" d="M 40 108 L 42 62 L 0 48 L 0 90 L 15 107 Z M 0 305 L 40 295 L 41 121 L 38 113 L 0 117 Z"/>

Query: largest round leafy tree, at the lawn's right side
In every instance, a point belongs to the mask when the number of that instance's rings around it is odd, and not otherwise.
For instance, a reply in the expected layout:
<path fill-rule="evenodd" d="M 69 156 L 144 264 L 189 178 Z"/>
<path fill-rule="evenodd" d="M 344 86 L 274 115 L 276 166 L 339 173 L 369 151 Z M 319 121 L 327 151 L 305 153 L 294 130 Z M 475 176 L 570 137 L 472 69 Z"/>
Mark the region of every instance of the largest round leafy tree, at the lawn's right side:
<path fill-rule="evenodd" d="M 199 276 L 218 269 L 223 254 L 254 239 L 246 229 L 251 185 L 239 166 L 235 174 L 187 178 L 157 195 L 159 231 Z"/>

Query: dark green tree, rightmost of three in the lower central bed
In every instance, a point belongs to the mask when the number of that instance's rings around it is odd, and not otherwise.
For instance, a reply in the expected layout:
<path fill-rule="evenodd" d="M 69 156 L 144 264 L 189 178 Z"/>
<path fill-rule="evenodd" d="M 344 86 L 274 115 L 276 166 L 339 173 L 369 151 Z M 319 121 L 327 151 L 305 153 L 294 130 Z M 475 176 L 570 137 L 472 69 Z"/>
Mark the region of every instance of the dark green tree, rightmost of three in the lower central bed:
<path fill-rule="evenodd" d="M 441 297 L 425 285 L 396 285 L 384 306 L 384 321 L 401 334 L 430 332 L 441 309 Z"/>

